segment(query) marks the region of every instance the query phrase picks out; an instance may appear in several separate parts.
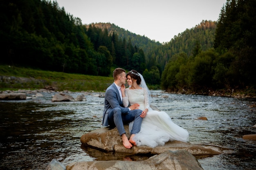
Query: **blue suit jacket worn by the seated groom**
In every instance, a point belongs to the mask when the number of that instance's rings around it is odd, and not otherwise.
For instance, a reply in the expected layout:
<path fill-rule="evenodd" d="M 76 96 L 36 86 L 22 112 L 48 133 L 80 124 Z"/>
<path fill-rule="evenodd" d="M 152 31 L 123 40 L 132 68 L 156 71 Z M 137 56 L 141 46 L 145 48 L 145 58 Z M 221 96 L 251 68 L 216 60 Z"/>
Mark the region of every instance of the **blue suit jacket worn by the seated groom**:
<path fill-rule="evenodd" d="M 104 111 L 103 111 L 103 120 L 102 120 L 102 125 L 103 126 L 108 126 L 108 113 L 113 109 L 113 108 L 120 108 L 121 113 L 129 113 L 129 108 L 125 108 L 123 106 L 123 102 L 121 101 L 119 91 L 117 89 L 117 86 L 115 83 L 111 84 L 106 92 L 105 92 L 105 106 L 104 106 Z"/>

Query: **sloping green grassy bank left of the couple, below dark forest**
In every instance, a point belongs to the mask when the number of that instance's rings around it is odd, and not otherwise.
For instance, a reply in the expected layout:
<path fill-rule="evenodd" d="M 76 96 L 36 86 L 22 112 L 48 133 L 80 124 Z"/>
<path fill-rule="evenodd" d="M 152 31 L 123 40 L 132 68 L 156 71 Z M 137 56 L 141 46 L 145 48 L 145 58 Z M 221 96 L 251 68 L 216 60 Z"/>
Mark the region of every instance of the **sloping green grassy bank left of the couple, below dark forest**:
<path fill-rule="evenodd" d="M 0 91 L 18 89 L 56 89 L 58 91 L 104 91 L 113 77 L 102 77 L 63 72 L 34 70 L 0 65 Z M 23 77 L 20 81 L 7 77 Z M 5 78 L 3 78 L 5 77 Z"/>

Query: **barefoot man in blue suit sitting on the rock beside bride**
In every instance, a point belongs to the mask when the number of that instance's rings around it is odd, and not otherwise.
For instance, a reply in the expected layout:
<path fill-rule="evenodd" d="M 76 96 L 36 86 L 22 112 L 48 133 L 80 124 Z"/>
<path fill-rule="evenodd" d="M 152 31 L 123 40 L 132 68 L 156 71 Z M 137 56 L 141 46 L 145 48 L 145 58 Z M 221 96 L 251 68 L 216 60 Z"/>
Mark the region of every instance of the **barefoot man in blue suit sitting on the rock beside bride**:
<path fill-rule="evenodd" d="M 110 85 L 105 93 L 105 106 L 103 111 L 103 126 L 116 126 L 119 135 L 122 138 L 123 145 L 131 148 L 132 144 L 136 146 L 133 137 L 140 131 L 142 119 L 140 117 L 142 110 L 139 110 L 139 104 L 133 104 L 125 108 L 122 102 L 121 86 L 126 83 L 126 73 L 123 68 L 116 68 L 113 72 L 114 83 Z M 124 124 L 134 121 L 130 139 L 126 137 Z"/>

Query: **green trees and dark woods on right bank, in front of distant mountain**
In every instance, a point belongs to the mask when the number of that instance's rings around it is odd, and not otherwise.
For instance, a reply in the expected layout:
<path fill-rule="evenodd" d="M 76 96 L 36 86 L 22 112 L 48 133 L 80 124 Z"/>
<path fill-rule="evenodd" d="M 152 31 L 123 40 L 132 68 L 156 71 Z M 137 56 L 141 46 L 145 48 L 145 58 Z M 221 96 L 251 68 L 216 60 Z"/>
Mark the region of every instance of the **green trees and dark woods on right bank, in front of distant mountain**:
<path fill-rule="evenodd" d="M 162 87 L 168 91 L 255 89 L 255 9 L 255 0 L 227 0 L 217 21 L 213 48 L 206 50 L 195 40 L 198 45 L 192 53 L 168 56 Z"/>

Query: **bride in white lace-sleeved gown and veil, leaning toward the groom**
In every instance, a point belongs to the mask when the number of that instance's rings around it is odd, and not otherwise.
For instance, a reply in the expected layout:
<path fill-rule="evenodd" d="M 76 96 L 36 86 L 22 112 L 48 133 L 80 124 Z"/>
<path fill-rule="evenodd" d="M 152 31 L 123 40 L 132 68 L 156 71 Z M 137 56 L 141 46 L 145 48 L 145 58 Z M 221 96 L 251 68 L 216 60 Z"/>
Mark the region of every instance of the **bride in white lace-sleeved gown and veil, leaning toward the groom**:
<path fill-rule="evenodd" d="M 143 76 L 132 70 L 126 74 L 126 78 L 129 87 L 121 86 L 124 107 L 137 103 L 140 105 L 139 109 L 146 112 L 141 130 L 133 137 L 136 146 L 155 148 L 164 146 L 167 141 L 186 142 L 189 137 L 187 130 L 173 123 L 167 113 L 150 108 L 150 91 Z M 129 130 L 132 129 L 132 125 L 133 122 L 130 122 Z"/>

